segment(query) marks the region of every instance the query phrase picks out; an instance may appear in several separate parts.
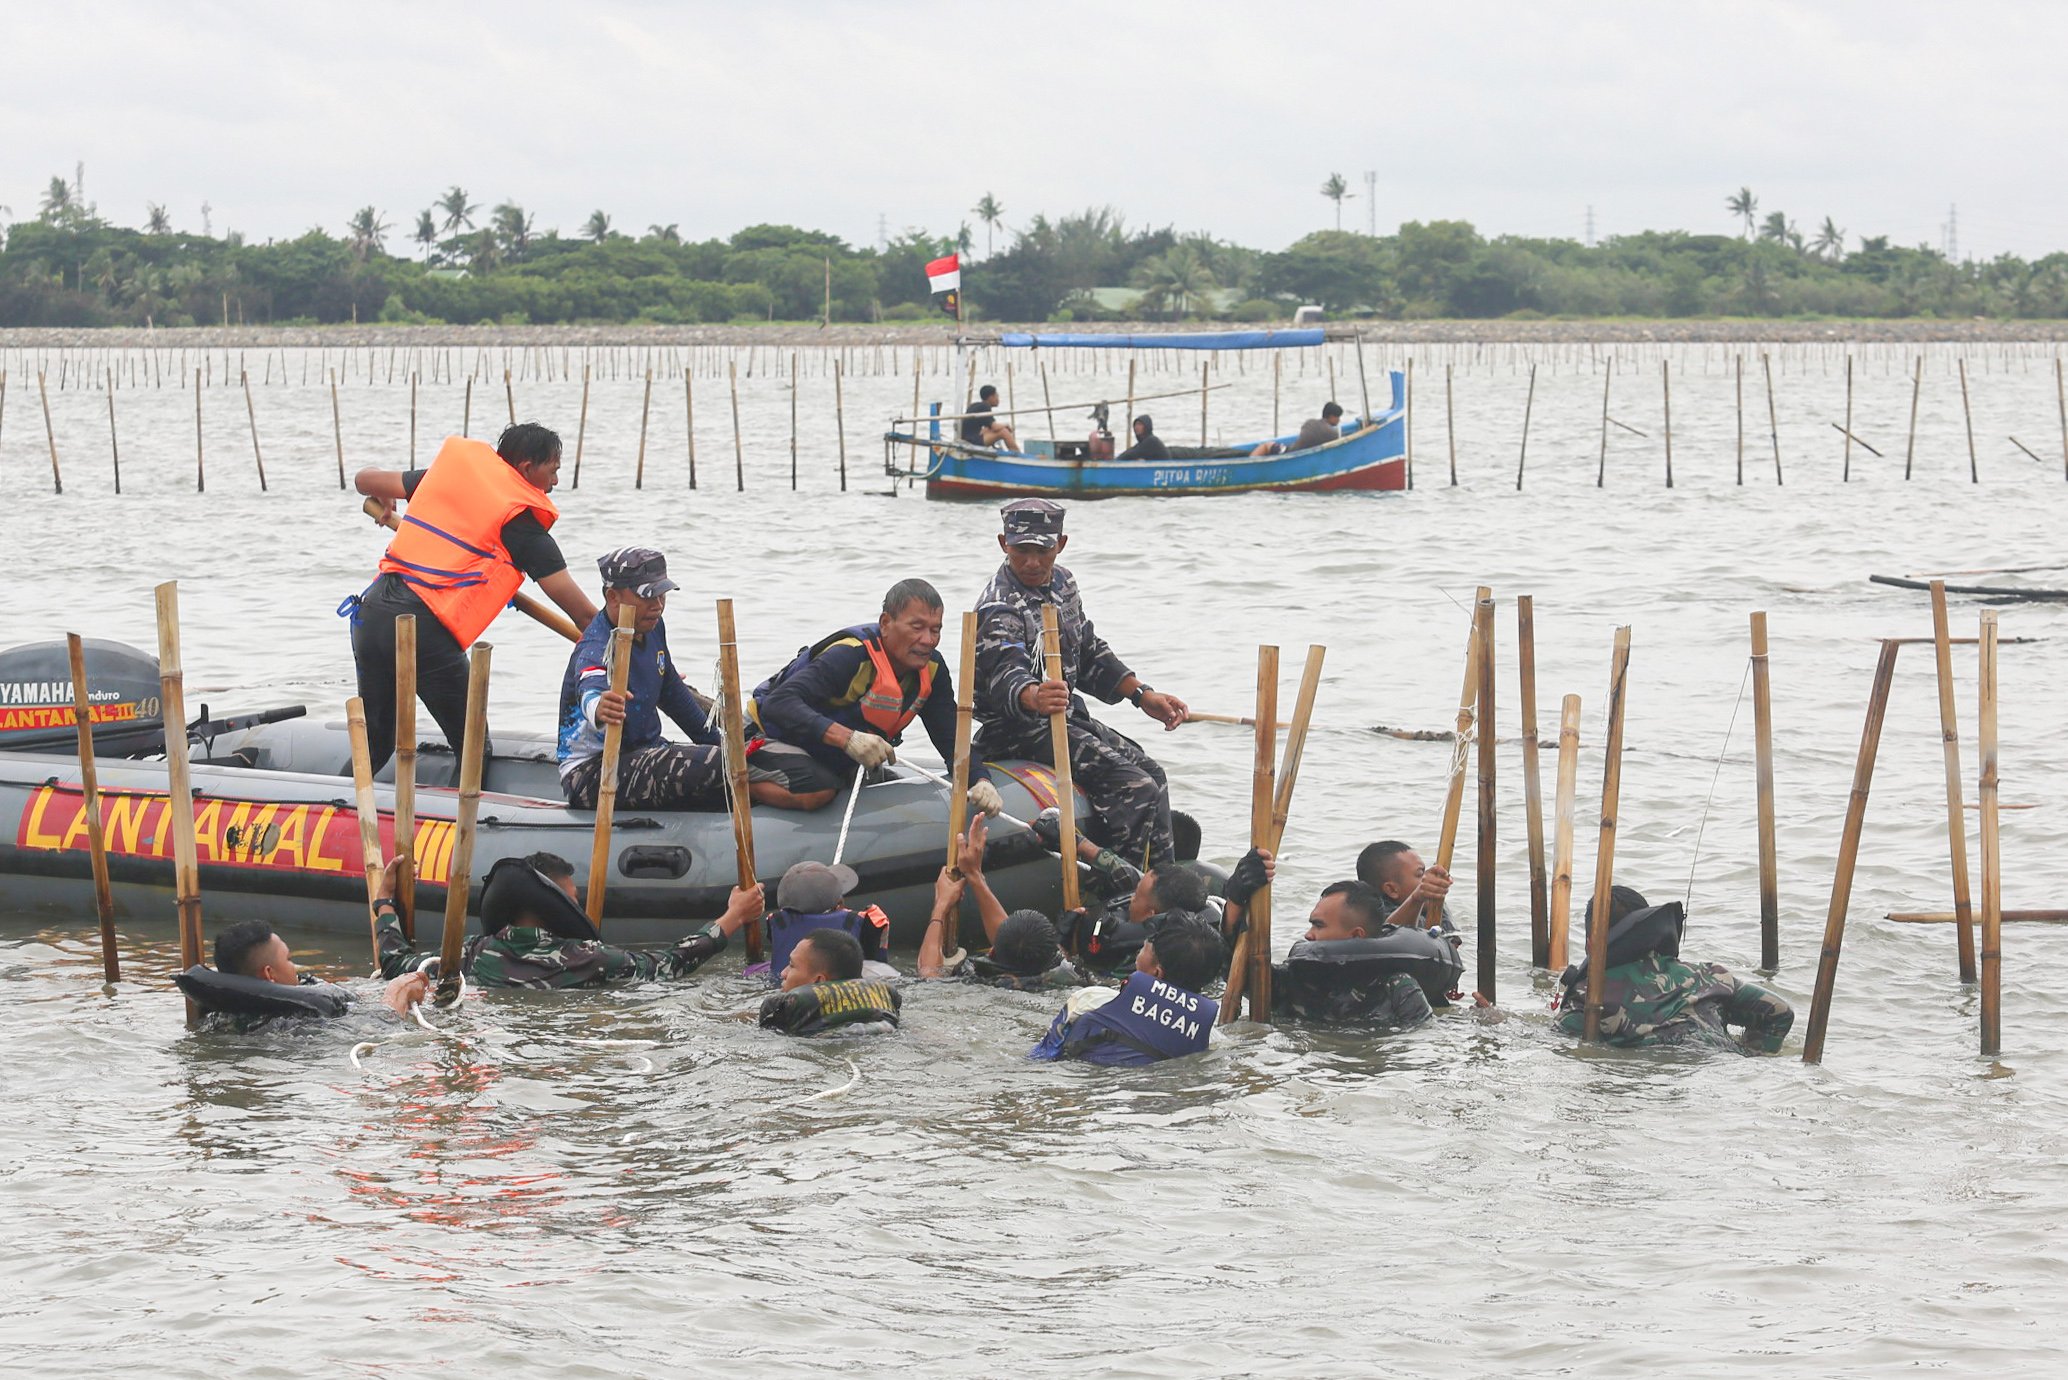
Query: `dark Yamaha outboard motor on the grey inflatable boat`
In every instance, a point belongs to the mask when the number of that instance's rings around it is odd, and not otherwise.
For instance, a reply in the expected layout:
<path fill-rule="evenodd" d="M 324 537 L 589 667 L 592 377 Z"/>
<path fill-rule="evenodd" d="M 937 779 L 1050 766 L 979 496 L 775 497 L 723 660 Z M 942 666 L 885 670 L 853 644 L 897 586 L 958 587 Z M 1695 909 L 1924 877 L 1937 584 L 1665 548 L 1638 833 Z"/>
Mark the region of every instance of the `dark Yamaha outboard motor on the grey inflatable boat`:
<path fill-rule="evenodd" d="M 110 757 L 163 747 L 157 658 L 120 641 L 85 639 L 93 745 Z M 0 751 L 77 751 L 72 658 L 62 641 L 0 652 Z"/>

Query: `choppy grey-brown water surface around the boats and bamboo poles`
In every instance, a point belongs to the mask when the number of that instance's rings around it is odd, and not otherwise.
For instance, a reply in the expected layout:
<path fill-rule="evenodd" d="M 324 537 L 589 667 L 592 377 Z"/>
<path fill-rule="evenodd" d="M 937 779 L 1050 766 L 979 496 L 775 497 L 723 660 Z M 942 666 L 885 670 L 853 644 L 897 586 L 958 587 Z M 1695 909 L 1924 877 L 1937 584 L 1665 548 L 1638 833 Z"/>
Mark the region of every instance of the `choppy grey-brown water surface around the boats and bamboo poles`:
<path fill-rule="evenodd" d="M 1611 633 L 1634 627 L 1617 879 L 1665 900 L 1694 867 L 1687 948 L 1750 970 L 1741 689 L 1745 614 L 1768 610 L 1772 985 L 1797 1003 L 1787 1055 L 1582 1053 L 1549 1028 L 1547 981 L 1528 970 L 1514 747 L 1499 819 L 1508 1020 L 1448 1012 L 1386 1039 L 1243 1026 L 1202 1059 L 1146 1072 L 1032 1066 L 1022 1055 L 1051 1003 L 953 987 L 910 991 L 895 1039 L 782 1041 L 736 1020 L 759 989 L 732 966 L 676 989 L 474 999 L 436 1034 L 372 1018 L 190 1034 L 163 981 L 170 908 L 124 925 L 128 981 L 112 993 L 87 927 L 10 917 L 8 1370 L 2051 1374 L 2068 1351 L 2068 999 L 2054 979 L 2068 935 L 2006 929 L 2004 1057 L 1987 1061 L 1952 931 L 1880 919 L 1950 904 L 1927 648 L 1898 666 L 1826 1061 L 1797 1055 L 1874 639 L 1929 633 L 1921 596 L 1865 575 L 2058 554 L 2068 484 L 2004 441 L 2047 455 L 2051 437 L 2058 453 L 2054 372 L 1971 362 L 1977 486 L 1958 385 L 1940 368 L 1950 360 L 1934 358 L 1917 480 L 1903 484 L 1911 356 L 1882 370 L 1867 352 L 1855 430 L 1890 459 L 1855 451 L 1855 482 L 1841 486 L 1828 422 L 1843 418 L 1843 379 L 1822 356 L 1791 356 L 1787 486 L 1766 455 L 1739 488 L 1727 356 L 1675 358 L 1673 490 L 1656 482 L 1656 430 L 1617 432 L 1609 488 L 1594 488 L 1601 377 L 1570 360 L 1539 374 L 1520 494 L 1526 379 L 1460 370 L 1466 482 L 1439 486 L 1441 393 L 1425 362 L 1415 494 L 1086 505 L 1069 517 L 1067 563 L 1098 627 L 1195 708 L 1245 710 L 1259 639 L 1284 646 L 1286 699 L 1303 648 L 1328 646 L 1276 892 L 1282 941 L 1361 844 L 1433 844 L 1450 749 L 1371 724 L 1448 724 L 1462 604 L 1485 581 L 1503 598 L 1503 737 L 1516 732 L 1514 594 L 1537 600 L 1547 741 L 1568 691 L 1584 697 L 1588 745 L 1601 741 Z M 1656 364 L 1615 385 L 1636 399 L 1638 379 L 1656 408 Z M 900 575 L 924 573 L 957 604 L 995 565 L 984 507 L 835 492 L 829 418 L 807 437 L 804 492 L 788 492 L 780 387 L 757 379 L 742 401 L 744 494 L 691 494 L 676 470 L 656 480 L 660 443 L 635 492 L 641 385 L 591 397 L 583 484 L 560 494 L 558 534 L 577 571 L 608 544 L 670 552 L 685 662 L 711 654 L 718 594 L 738 602 L 753 674 L 866 617 Z M 815 391 L 829 383 L 804 387 L 807 414 L 823 412 Z M 1071 397 L 1086 387 L 1071 381 Z M 701 457 L 730 466 L 730 426 L 705 391 Z M 234 391 L 209 395 L 207 424 L 223 430 L 209 432 L 221 461 L 205 497 L 190 492 L 190 393 L 116 395 L 120 499 L 95 474 L 105 449 L 91 449 L 105 441 L 93 430 L 105 397 L 52 397 L 77 476 L 62 499 L 43 482 L 41 418 L 19 397 L 0 432 L 12 557 L 0 646 L 66 629 L 149 646 L 149 590 L 178 577 L 190 701 L 337 710 L 349 652 L 331 608 L 368 579 L 381 540 L 335 490 L 325 389 L 261 389 L 263 497 L 236 468 L 248 439 Z M 1268 416 L 1253 366 L 1214 397 L 1230 426 Z M 1754 399 L 1764 406 L 1747 379 L 1747 414 Z M 426 387 L 424 434 L 432 418 L 457 420 L 459 401 L 457 385 Z M 579 383 L 534 383 L 523 401 L 571 432 Z M 349 466 L 405 455 L 403 389 L 362 383 L 345 406 Z M 862 434 L 906 406 L 908 377 L 848 383 L 856 472 L 875 459 Z M 1636 401 L 1613 406 L 1652 430 Z M 1754 437 L 1768 443 L 1764 414 Z M 680 443 L 676 424 L 668 445 Z M 2029 579 L 2068 583 L 2068 571 Z M 1975 617 L 1956 600 L 1956 631 L 1973 633 Z M 2006 637 L 2035 639 L 2006 646 L 2002 664 L 2004 801 L 2033 807 L 2004 815 L 2004 896 L 2060 906 L 2068 612 L 2002 619 Z M 494 722 L 546 726 L 560 648 L 511 619 L 494 639 Z M 1956 672 L 1973 799 L 1971 648 Z M 1193 726 L 1154 745 L 1179 805 L 1206 821 L 1208 854 L 1233 859 L 1249 739 Z M 1599 753 L 1582 753 L 1580 780 L 1584 823 Z M 1460 871 L 1470 857 L 1468 813 Z M 1592 857 L 1582 828 L 1576 900 Z M 1468 917 L 1468 877 L 1460 902 Z M 360 970 L 358 950 L 296 935 L 292 912 L 279 925 L 310 964 Z M 364 1070 L 345 1057 L 358 1039 L 387 1041 Z"/>

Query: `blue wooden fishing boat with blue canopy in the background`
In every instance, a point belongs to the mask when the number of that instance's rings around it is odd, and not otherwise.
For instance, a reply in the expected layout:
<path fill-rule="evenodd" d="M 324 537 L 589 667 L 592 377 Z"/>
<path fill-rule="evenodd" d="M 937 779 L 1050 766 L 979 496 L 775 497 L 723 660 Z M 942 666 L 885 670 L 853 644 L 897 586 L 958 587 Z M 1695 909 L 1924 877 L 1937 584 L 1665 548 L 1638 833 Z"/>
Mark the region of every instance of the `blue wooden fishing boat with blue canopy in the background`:
<path fill-rule="evenodd" d="M 1321 346 L 1324 329 L 1299 331 L 1193 331 L 1162 335 L 1022 333 L 966 337 L 957 346 L 989 343 L 1007 350 L 1295 350 Z M 1363 387 L 1363 381 L 1359 381 Z M 1038 441 L 1022 437 L 1022 451 L 970 445 L 960 439 L 960 414 L 931 408 L 924 430 L 885 432 L 885 470 L 893 480 L 924 482 L 929 499 L 997 499 L 1067 494 L 1119 499 L 1131 494 L 1222 494 L 1251 490 L 1330 492 L 1406 488 L 1406 383 L 1386 374 L 1386 401 L 1371 418 L 1344 418 L 1342 437 L 1303 451 L 1297 434 L 1255 437 L 1220 447 L 1170 447 L 1168 459 L 1113 459 L 1106 408 L 1090 403 L 1094 428 L 1086 439 Z M 1137 399 L 1139 401 L 1139 399 Z M 1086 403 L 1069 403 L 1082 410 Z M 1020 418 L 1048 408 L 1020 410 Z M 1053 410 L 1051 410 L 1053 412 Z M 920 422 L 920 418 L 908 418 Z M 943 430 L 943 422 L 949 426 Z M 1127 420 L 1123 420 L 1123 428 Z M 1274 453 L 1257 455 L 1264 443 Z"/>

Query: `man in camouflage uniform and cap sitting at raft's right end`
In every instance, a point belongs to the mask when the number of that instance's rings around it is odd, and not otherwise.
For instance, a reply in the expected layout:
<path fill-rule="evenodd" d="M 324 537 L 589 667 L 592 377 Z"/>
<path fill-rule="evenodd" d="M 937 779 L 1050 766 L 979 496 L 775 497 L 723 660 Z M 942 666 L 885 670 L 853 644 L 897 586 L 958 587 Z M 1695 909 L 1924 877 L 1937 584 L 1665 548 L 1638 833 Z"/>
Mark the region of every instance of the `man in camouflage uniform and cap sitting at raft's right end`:
<path fill-rule="evenodd" d="M 1005 565 L 976 598 L 976 722 L 980 757 L 1032 757 L 1053 761 L 1048 716 L 1069 716 L 1069 770 L 1092 819 L 1086 832 L 1150 867 L 1175 861 L 1170 846 L 1170 788 L 1162 768 L 1142 747 L 1100 724 L 1084 703 L 1127 699 L 1166 730 L 1189 710 L 1177 695 L 1150 689 L 1106 646 L 1084 614 L 1075 577 L 1057 565 L 1069 544 L 1063 507 L 1046 499 L 1015 499 L 1003 509 L 999 548 Z M 1040 610 L 1055 604 L 1063 648 L 1063 679 L 1042 668 Z"/>

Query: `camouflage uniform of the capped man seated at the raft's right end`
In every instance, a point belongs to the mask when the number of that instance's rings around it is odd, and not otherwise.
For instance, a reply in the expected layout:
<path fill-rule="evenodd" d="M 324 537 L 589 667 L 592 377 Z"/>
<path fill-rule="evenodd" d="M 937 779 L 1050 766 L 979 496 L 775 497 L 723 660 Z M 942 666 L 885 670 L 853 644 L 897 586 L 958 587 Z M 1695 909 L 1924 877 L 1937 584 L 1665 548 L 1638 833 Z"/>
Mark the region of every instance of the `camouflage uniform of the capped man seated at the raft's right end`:
<path fill-rule="evenodd" d="M 1040 606 L 1055 604 L 1063 683 L 1069 685 L 1069 770 L 1092 803 L 1086 830 L 1129 863 L 1148 850 L 1150 865 L 1177 857 L 1170 842 L 1170 788 L 1142 747 L 1100 724 L 1084 695 L 1121 703 L 1121 683 L 1133 674 L 1084 617 L 1077 579 L 1055 567 L 1044 590 L 1030 590 L 1001 565 L 976 598 L 976 743 L 978 759 L 1030 757 L 1055 761 L 1048 718 L 1030 714 L 1020 691 L 1044 679 Z"/>

